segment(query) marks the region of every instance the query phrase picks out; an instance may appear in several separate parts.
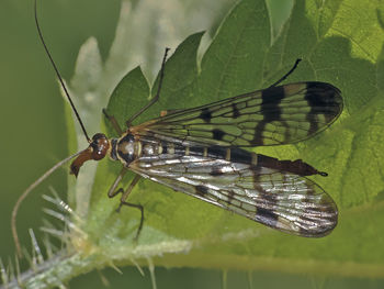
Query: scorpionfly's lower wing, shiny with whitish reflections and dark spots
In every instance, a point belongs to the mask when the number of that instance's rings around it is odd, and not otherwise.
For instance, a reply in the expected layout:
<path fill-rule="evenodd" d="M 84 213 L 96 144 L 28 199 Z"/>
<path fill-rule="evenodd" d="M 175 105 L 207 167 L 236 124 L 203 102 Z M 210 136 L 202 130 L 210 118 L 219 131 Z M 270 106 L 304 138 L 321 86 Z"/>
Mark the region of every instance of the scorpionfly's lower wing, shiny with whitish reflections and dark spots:
<path fill-rule="evenodd" d="M 294 174 L 174 154 L 142 157 L 129 169 L 286 233 L 319 237 L 337 224 L 334 200 L 315 182 Z"/>

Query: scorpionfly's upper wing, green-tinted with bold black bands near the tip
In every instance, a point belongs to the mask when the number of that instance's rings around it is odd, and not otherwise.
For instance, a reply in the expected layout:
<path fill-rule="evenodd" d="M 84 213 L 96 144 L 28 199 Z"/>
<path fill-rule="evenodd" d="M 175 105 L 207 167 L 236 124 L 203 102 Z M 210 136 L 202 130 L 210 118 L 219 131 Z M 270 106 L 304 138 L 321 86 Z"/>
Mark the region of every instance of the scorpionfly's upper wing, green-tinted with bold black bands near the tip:
<path fill-rule="evenodd" d="M 342 99 L 336 87 L 297 82 L 178 110 L 132 131 L 162 141 L 177 138 L 183 145 L 280 145 L 325 130 L 341 111 Z"/>

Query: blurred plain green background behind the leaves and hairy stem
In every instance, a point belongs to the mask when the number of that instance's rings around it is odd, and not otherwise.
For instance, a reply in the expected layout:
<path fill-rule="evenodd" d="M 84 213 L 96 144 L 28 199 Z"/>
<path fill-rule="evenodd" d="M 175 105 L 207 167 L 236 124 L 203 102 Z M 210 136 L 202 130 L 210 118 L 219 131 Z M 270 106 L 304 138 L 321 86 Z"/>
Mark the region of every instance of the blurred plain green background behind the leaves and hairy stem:
<path fill-rule="evenodd" d="M 193 9 L 193 5 L 199 5 L 202 1 L 181 2 Z M 215 7 L 210 7 L 210 0 L 205 2 L 207 4 L 201 9 L 212 9 L 211 14 L 216 19 L 207 23 L 214 26 L 236 1 L 222 1 L 222 5 Z M 270 2 L 274 7 L 274 18 L 281 22 L 289 12 L 289 1 Z M 120 0 L 39 1 L 41 26 L 65 79 L 71 78 L 79 47 L 91 35 L 98 40 L 101 55 L 105 59 L 114 38 L 120 9 Z M 188 23 L 181 24 L 188 26 Z M 188 35 L 185 33 L 179 42 Z M 37 37 L 32 0 L 0 2 L 0 148 L 3 154 L 0 166 L 0 256 L 7 264 L 9 258 L 14 260 L 10 215 L 16 198 L 47 168 L 67 156 L 68 152 L 64 102 L 55 74 Z M 151 71 L 145 73 L 150 75 Z M 49 193 L 48 187 L 53 186 L 66 199 L 67 174 L 67 168 L 57 171 L 22 205 L 18 226 L 22 244 L 31 243 L 29 227 L 33 227 L 36 235 L 41 235 L 38 226 L 44 216 L 42 208 L 47 205 L 41 196 Z M 112 269 L 105 269 L 101 275 L 105 276 L 112 288 L 151 288 L 147 270 L 145 277 L 133 267 L 123 268 L 123 271 L 120 275 Z M 69 286 L 104 288 L 100 281 L 101 275 L 94 271 L 78 277 Z M 158 288 L 384 288 L 382 280 L 190 268 L 156 268 L 156 279 Z"/>

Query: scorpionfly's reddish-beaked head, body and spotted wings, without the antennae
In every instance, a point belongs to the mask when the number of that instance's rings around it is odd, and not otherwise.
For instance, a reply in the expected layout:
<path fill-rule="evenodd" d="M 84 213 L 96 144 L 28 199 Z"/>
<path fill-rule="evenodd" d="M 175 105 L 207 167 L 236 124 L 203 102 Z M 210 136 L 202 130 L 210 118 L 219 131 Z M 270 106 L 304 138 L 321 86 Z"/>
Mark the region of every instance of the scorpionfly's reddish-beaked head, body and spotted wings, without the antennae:
<path fill-rule="evenodd" d="M 140 177 L 268 226 L 324 236 L 337 224 L 337 207 L 306 176 L 327 174 L 301 159 L 279 160 L 241 147 L 303 141 L 329 126 L 341 110 L 340 91 L 329 84 L 270 87 L 128 126 L 120 138 L 95 134 L 71 170 L 77 175 L 92 154 L 99 159 L 109 154 Z"/>

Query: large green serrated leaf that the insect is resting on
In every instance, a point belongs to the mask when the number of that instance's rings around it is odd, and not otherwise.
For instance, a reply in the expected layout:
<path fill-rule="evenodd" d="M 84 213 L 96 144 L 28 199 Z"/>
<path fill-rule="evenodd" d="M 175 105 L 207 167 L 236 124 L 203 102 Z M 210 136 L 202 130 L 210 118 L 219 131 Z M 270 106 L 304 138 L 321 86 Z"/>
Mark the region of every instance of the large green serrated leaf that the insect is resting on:
<path fill-rule="evenodd" d="M 188 37 L 167 63 L 160 102 L 137 123 L 158 116 L 161 110 L 266 88 L 302 58 L 287 81 L 337 86 L 345 99 L 340 120 L 297 145 L 255 151 L 281 159 L 302 158 L 327 171 L 329 177 L 314 180 L 338 203 L 336 230 L 316 240 L 286 235 L 142 180 L 128 198 L 145 209 L 144 229 L 135 243 L 140 214 L 132 208 L 115 212 L 118 197 L 111 200 L 106 192 L 121 165 L 105 159 L 98 167 L 88 215 L 81 222 L 75 220 L 78 230 L 70 231 L 70 247 L 80 259 L 72 265 L 77 274 L 153 258 L 155 265 L 178 267 L 383 277 L 383 4 L 379 0 L 297 0 L 273 41 L 271 31 L 264 1 L 242 0 L 221 24 L 201 64 L 196 55 L 202 33 Z M 150 92 L 142 70 L 134 69 L 115 88 L 109 113 L 124 126 L 156 93 L 156 87 Z M 115 135 L 109 124 L 102 126 Z M 124 178 L 124 188 L 132 177 Z"/>

